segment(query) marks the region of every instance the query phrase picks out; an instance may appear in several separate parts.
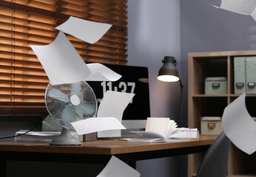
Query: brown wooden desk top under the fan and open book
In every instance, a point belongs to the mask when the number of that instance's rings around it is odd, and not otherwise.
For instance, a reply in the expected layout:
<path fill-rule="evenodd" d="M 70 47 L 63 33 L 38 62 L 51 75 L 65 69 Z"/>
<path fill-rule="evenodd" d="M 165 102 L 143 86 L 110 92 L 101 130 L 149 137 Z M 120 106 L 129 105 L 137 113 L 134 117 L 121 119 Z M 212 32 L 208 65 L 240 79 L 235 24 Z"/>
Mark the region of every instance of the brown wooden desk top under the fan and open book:
<path fill-rule="evenodd" d="M 0 142 L 0 151 L 30 153 L 78 153 L 117 155 L 140 153 L 154 150 L 172 150 L 187 147 L 209 146 L 216 136 L 201 136 L 199 139 L 185 139 L 183 142 L 142 143 L 127 142 L 119 139 L 99 139 L 94 142 L 83 142 L 81 146 L 56 146 L 48 144 Z"/>

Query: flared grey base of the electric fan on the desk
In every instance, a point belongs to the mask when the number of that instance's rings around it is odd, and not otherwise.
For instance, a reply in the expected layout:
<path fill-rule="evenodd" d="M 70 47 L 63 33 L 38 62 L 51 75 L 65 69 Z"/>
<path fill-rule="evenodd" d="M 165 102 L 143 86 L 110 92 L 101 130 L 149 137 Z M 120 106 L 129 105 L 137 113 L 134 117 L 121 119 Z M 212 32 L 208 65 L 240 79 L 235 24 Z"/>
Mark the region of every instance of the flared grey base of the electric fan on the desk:
<path fill-rule="evenodd" d="M 53 138 L 50 145 L 81 145 L 81 142 L 71 135 L 69 129 L 62 128 L 61 134 Z"/>

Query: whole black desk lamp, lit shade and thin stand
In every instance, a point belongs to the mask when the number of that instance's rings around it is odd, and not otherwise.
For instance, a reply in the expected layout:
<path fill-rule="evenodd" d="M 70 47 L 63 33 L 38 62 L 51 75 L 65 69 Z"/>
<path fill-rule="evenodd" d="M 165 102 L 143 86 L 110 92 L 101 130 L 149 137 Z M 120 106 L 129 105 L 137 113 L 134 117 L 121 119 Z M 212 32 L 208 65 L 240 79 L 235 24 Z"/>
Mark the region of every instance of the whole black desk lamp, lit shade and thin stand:
<path fill-rule="evenodd" d="M 165 56 L 164 60 L 162 60 L 164 65 L 159 69 L 158 72 L 158 80 L 164 82 L 180 82 L 181 87 L 181 96 L 180 96 L 180 111 L 179 111 L 179 120 L 178 125 L 181 126 L 181 100 L 182 100 L 182 91 L 183 91 L 183 84 L 181 79 L 178 77 L 178 69 L 176 68 L 176 60 L 172 56 Z"/>

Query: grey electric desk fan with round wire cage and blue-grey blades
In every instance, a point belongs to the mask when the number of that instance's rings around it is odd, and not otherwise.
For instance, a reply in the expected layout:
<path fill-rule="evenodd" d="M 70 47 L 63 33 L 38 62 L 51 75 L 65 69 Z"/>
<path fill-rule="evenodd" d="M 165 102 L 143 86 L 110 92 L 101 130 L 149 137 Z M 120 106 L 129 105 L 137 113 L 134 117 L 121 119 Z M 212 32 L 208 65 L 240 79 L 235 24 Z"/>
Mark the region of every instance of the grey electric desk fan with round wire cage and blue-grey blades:
<path fill-rule="evenodd" d="M 70 131 L 74 131 L 71 122 L 95 117 L 97 100 L 92 88 L 85 81 L 48 84 L 45 91 L 45 104 L 50 116 L 62 127 L 50 145 L 81 145 Z"/>

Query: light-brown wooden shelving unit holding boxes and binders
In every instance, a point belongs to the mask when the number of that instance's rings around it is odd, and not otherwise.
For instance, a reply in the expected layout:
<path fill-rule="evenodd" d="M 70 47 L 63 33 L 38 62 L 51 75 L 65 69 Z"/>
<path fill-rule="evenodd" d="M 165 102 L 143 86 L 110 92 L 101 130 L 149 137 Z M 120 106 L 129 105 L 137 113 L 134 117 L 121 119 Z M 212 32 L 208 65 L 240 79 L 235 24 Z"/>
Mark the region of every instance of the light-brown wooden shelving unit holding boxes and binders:
<path fill-rule="evenodd" d="M 188 125 L 191 128 L 201 126 L 200 117 L 222 117 L 226 105 L 232 103 L 239 94 L 234 89 L 234 57 L 254 56 L 252 51 L 230 52 L 195 52 L 189 53 L 188 71 Z M 204 94 L 204 80 L 206 77 L 226 77 L 227 94 Z M 256 103 L 256 94 L 246 95 L 246 106 L 251 116 L 256 116 L 256 109 L 250 108 Z M 256 138 L 256 135 L 255 135 Z M 196 176 L 204 154 L 189 155 L 188 176 Z M 251 156 L 243 153 L 235 145 L 231 145 L 229 152 L 229 167 L 227 176 L 245 177 L 256 176 L 256 154 Z"/>

